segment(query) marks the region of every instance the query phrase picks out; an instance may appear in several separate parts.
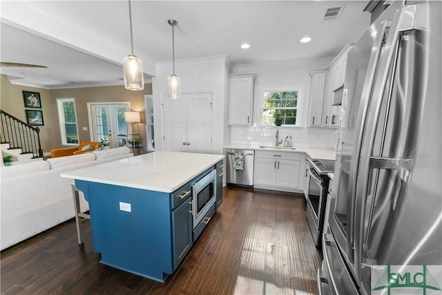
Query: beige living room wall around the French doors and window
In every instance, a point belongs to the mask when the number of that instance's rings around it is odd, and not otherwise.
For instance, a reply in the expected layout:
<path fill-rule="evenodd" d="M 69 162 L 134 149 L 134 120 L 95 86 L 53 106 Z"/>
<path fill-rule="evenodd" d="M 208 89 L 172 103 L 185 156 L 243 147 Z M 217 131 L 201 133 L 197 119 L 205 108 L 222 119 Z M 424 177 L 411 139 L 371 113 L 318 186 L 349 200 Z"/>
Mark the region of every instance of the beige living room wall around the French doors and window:
<path fill-rule="evenodd" d="M 61 147 L 59 121 L 57 115 L 57 98 L 75 98 L 77 108 L 79 140 L 90 140 L 89 131 L 83 131 L 83 127 L 89 127 L 88 102 L 131 102 L 132 111 L 140 111 L 142 122 L 144 117 L 144 95 L 152 94 L 152 84 L 145 84 L 144 91 L 128 91 L 124 86 L 99 86 L 87 88 L 69 89 L 42 89 L 27 86 L 12 85 L 6 75 L 1 76 L 1 110 L 26 122 L 26 114 L 22 91 L 34 91 L 40 93 L 43 111 L 44 126 L 39 126 L 41 145 L 44 153 L 50 149 Z M 145 131 L 144 124 L 140 124 L 140 131 Z M 146 135 L 143 135 L 146 138 Z"/>

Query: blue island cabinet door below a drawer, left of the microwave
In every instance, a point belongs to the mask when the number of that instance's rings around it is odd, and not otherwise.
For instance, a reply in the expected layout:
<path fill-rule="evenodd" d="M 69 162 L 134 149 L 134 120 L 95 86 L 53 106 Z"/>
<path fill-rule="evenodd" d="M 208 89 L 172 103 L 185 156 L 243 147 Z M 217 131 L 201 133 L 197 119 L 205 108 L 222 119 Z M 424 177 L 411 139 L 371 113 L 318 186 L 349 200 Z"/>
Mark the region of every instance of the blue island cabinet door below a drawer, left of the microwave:
<path fill-rule="evenodd" d="M 191 209 L 191 198 L 187 198 L 180 207 L 172 212 L 173 269 L 177 269 L 192 247 Z"/>

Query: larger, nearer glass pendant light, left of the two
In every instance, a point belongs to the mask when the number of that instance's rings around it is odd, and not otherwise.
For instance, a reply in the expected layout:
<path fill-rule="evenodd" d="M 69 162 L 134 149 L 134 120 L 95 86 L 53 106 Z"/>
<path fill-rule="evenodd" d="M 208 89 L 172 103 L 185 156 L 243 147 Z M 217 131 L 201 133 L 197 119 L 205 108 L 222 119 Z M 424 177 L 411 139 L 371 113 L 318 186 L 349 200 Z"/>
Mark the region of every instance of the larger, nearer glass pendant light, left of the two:
<path fill-rule="evenodd" d="M 132 36 L 132 10 L 131 0 L 129 1 L 129 25 L 131 29 L 131 55 L 123 59 L 124 87 L 128 90 L 143 90 L 143 63 L 141 59 L 133 55 L 133 36 Z"/>

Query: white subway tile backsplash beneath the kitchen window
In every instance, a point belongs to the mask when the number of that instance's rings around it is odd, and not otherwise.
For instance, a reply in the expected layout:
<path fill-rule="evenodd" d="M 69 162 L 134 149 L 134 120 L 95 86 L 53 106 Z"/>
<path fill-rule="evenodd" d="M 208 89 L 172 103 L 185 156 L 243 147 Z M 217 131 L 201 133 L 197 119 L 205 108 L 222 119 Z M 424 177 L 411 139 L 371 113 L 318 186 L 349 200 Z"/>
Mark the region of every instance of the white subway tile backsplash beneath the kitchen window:
<path fill-rule="evenodd" d="M 276 130 L 279 139 L 284 142 L 291 136 L 293 146 L 336 149 L 339 129 L 311 127 L 276 127 L 276 126 L 231 126 L 232 144 L 275 144 Z"/>

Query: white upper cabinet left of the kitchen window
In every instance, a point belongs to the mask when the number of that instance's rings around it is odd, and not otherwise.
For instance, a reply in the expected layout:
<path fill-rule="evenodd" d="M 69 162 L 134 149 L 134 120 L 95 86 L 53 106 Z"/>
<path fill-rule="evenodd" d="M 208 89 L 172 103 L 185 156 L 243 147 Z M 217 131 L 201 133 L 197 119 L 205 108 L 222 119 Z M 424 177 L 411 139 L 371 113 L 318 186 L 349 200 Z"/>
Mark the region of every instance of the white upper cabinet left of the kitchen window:
<path fill-rule="evenodd" d="M 229 75 L 229 125 L 251 125 L 253 75 Z"/>

